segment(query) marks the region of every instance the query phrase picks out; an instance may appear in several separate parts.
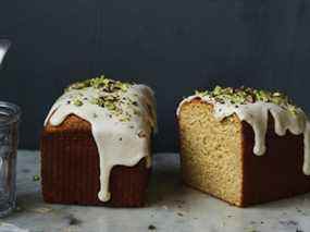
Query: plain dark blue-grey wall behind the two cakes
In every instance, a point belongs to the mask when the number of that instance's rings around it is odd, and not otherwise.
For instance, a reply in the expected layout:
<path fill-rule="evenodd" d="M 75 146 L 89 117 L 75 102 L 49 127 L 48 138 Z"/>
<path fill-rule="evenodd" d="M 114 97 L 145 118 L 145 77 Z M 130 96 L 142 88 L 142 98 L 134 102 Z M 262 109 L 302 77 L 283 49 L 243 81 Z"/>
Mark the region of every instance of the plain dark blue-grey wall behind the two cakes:
<path fill-rule="evenodd" d="M 177 149 L 175 109 L 196 88 L 276 88 L 310 110 L 307 0 L 1 0 L 0 36 L 13 41 L 0 99 L 23 109 L 23 148 L 64 86 L 102 71 L 156 90 L 157 150 Z"/>

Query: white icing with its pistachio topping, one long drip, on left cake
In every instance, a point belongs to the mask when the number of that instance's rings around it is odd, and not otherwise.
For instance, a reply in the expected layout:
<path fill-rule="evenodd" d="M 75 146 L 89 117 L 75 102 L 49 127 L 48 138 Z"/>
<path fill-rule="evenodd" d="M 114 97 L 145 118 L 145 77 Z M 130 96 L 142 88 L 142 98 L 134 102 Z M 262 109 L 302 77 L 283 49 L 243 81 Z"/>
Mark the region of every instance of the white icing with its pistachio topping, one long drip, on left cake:
<path fill-rule="evenodd" d="M 109 179 L 114 166 L 133 167 L 146 158 L 150 167 L 150 136 L 157 129 L 153 91 L 146 85 L 100 76 L 75 83 L 52 106 L 45 125 L 60 125 L 75 114 L 91 125 L 99 160 L 98 198 L 110 199 Z"/>

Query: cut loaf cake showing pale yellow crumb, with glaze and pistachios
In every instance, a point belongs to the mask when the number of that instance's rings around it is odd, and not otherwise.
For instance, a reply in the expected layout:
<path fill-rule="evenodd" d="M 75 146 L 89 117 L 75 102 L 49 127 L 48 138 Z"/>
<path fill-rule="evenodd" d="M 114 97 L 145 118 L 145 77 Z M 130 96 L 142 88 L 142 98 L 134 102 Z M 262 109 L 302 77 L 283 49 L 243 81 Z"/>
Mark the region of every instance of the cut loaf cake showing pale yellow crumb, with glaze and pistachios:
<path fill-rule="evenodd" d="M 216 86 L 177 120 L 185 184 L 239 207 L 310 191 L 310 124 L 284 94 Z"/>

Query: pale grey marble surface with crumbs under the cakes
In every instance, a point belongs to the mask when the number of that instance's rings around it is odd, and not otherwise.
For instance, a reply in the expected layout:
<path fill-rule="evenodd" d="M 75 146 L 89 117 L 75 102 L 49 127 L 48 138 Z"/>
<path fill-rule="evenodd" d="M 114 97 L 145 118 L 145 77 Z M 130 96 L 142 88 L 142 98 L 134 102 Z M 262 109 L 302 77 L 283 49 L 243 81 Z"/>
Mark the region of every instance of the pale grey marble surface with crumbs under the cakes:
<path fill-rule="evenodd" d="M 39 173 L 38 151 L 20 150 L 18 207 L 0 220 L 0 231 L 4 231 L 1 230 L 4 223 L 37 232 L 310 231 L 310 194 L 241 209 L 184 186 L 178 168 L 177 154 L 154 156 L 146 208 L 49 205 L 42 202 L 39 181 L 34 180 Z"/>

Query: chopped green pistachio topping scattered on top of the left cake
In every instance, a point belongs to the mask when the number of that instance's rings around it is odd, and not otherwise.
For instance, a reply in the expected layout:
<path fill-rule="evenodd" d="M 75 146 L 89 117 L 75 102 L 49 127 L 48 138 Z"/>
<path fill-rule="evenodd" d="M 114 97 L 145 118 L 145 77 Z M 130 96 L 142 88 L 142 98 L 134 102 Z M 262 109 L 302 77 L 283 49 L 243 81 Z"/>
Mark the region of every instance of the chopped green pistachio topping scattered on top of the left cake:
<path fill-rule="evenodd" d="M 121 122 L 128 122 L 133 115 L 141 115 L 137 101 L 139 94 L 133 93 L 133 88 L 141 86 L 134 83 L 114 81 L 101 75 L 71 84 L 65 88 L 64 95 L 60 100 L 65 98 L 66 105 L 74 107 L 97 106 L 106 110 L 110 118 L 115 117 Z M 147 86 L 142 87 L 148 88 Z M 150 89 L 148 88 L 148 90 Z"/>

